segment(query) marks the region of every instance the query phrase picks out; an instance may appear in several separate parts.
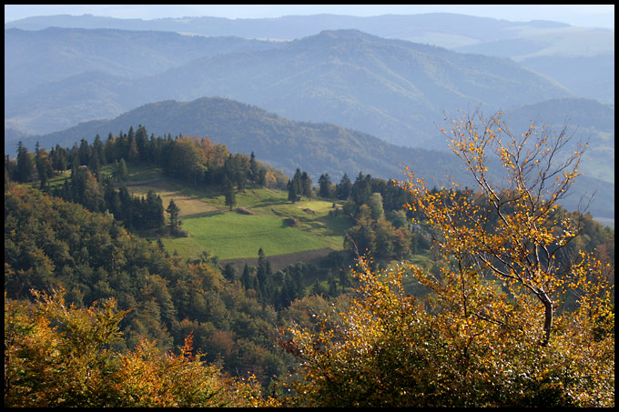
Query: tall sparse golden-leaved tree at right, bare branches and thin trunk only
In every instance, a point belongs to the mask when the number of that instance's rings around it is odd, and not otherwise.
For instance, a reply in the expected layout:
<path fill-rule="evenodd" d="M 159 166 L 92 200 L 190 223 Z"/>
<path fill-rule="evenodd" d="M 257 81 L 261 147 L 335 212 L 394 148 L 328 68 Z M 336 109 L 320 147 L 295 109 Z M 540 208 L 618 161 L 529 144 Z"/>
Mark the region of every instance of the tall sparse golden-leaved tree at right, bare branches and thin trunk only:
<path fill-rule="evenodd" d="M 543 306 L 541 344 L 547 345 L 553 306 L 565 293 L 566 282 L 571 282 L 572 266 L 558 265 L 556 256 L 580 228 L 578 215 L 554 222 L 553 211 L 580 175 L 585 146 L 565 156 L 562 149 L 571 140 L 566 127 L 553 133 L 530 126 L 516 136 L 501 113 L 489 119 L 475 113 L 450 126 L 452 150 L 477 182 L 484 202 L 457 196 L 454 190 L 429 196 L 422 180 L 410 173 L 409 181 L 402 184 L 417 200 L 410 207 L 419 208 L 439 228 L 442 236 L 437 246 L 451 252 L 458 272 L 485 271 L 500 279 L 514 296 L 524 292 L 536 297 Z M 502 162 L 503 185 L 489 174 L 487 152 L 492 149 Z M 555 231 L 557 223 L 560 226 Z"/>

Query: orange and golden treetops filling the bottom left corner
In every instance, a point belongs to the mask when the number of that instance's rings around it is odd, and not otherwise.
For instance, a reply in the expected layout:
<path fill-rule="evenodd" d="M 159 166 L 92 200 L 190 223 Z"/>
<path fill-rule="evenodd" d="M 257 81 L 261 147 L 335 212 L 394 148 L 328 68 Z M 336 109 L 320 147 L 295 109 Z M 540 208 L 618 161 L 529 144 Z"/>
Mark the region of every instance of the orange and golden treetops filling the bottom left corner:
<path fill-rule="evenodd" d="M 62 293 L 5 296 L 5 407 L 259 407 L 255 378 L 225 377 L 185 339 L 179 353 L 142 339 L 120 353 L 116 301 L 78 308 Z"/>

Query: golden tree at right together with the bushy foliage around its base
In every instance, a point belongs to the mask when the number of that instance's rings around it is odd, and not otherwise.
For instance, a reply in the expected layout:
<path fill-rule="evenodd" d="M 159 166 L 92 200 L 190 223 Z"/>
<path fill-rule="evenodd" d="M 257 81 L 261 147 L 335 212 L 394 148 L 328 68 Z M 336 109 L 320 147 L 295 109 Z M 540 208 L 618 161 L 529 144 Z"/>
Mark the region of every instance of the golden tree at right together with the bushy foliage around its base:
<path fill-rule="evenodd" d="M 360 256 L 350 307 L 281 329 L 301 362 L 296 405 L 614 406 L 613 269 L 582 251 L 559 258 L 582 216 L 554 213 L 583 153 L 565 132 L 516 135 L 501 114 L 451 124 L 477 190 L 428 190 L 410 171 L 400 182 L 440 259 L 376 271 Z M 407 277 L 427 294 L 411 296 Z"/>

